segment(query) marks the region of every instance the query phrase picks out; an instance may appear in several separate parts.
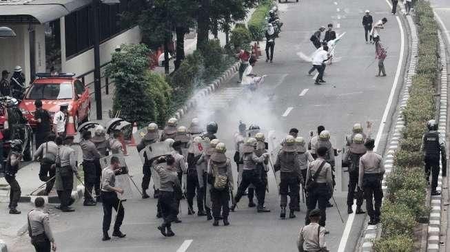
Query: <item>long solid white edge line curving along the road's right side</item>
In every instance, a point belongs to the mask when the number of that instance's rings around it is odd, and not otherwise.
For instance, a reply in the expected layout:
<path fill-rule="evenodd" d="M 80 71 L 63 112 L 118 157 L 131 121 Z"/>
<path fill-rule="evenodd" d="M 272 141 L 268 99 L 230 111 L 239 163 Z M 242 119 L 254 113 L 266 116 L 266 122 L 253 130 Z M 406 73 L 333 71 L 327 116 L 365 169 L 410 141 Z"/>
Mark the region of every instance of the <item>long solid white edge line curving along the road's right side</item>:
<path fill-rule="evenodd" d="M 389 6 L 389 8 L 392 8 L 391 3 L 389 0 L 385 0 L 387 5 Z M 396 17 L 397 19 L 397 23 L 398 23 L 398 27 L 400 28 L 400 57 L 398 59 L 398 65 L 397 65 L 397 72 L 396 72 L 396 76 L 393 79 L 393 85 L 391 88 L 391 93 L 389 94 L 389 98 L 387 100 L 387 105 L 385 108 L 385 112 L 383 112 L 383 116 L 382 119 L 380 121 L 380 127 L 378 127 L 378 132 L 376 134 L 376 138 L 375 138 L 375 148 L 374 151 L 376 151 L 376 149 L 378 149 L 378 144 L 380 143 L 380 139 L 382 136 L 382 132 L 383 129 L 385 129 L 385 124 L 386 124 L 386 120 L 387 120 L 387 116 L 389 114 L 389 109 L 391 108 L 391 104 L 393 101 L 393 95 L 396 93 L 396 88 L 398 85 L 398 79 L 400 78 L 400 72 L 402 70 L 402 65 L 403 65 L 403 56 L 405 54 L 405 34 L 404 34 L 404 30 L 402 27 L 402 23 L 400 22 L 400 18 Z M 351 231 L 351 226 L 353 226 L 353 221 L 354 218 L 351 217 L 351 215 L 349 216 L 349 218 L 347 219 L 347 222 L 345 223 L 345 229 L 344 232 L 342 233 L 342 238 L 340 238 L 340 243 L 339 243 L 339 248 L 338 248 L 338 252 L 344 252 L 345 251 L 345 246 L 347 245 L 347 240 L 349 239 L 349 234 Z"/>

